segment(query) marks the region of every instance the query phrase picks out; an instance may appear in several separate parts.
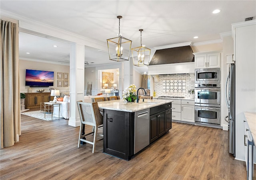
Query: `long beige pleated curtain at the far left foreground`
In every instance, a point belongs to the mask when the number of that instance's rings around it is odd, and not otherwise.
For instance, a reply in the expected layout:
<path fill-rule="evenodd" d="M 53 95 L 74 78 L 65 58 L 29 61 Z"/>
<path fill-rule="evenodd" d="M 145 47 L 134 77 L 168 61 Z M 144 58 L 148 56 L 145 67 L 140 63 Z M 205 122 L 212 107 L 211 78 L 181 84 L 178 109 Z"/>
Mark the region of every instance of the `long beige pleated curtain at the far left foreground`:
<path fill-rule="evenodd" d="M 17 136 L 21 135 L 18 25 L 1 20 L 0 40 L 0 138 L 3 148 L 14 145 Z"/>

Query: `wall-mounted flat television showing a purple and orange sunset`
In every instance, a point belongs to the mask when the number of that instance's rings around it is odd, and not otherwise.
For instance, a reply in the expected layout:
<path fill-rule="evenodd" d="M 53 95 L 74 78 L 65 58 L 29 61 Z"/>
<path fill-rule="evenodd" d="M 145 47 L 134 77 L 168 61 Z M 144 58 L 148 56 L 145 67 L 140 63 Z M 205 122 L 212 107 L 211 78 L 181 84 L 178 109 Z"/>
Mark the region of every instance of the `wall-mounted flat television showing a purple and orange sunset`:
<path fill-rule="evenodd" d="M 53 71 L 26 69 L 26 86 L 49 87 L 53 86 L 53 81 Z"/>

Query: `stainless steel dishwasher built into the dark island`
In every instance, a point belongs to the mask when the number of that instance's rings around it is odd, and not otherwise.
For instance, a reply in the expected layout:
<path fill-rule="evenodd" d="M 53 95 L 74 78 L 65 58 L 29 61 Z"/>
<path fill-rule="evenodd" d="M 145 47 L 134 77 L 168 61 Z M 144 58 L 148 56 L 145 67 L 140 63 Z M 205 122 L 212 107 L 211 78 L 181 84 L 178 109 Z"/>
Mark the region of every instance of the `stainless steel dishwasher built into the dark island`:
<path fill-rule="evenodd" d="M 150 109 L 135 112 L 134 121 L 134 154 L 149 145 L 150 134 Z"/>

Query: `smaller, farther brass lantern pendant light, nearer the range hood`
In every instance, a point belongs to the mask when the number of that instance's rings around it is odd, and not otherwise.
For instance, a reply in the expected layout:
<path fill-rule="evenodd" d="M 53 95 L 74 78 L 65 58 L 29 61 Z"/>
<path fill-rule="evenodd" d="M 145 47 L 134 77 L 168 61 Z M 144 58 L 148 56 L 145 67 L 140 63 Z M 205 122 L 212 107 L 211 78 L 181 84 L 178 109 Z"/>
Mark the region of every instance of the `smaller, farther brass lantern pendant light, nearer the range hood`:
<path fill-rule="evenodd" d="M 148 66 L 150 63 L 150 52 L 146 46 L 142 46 L 142 31 L 143 29 L 139 29 L 140 31 L 140 47 L 132 48 L 132 59 L 134 66 Z"/>

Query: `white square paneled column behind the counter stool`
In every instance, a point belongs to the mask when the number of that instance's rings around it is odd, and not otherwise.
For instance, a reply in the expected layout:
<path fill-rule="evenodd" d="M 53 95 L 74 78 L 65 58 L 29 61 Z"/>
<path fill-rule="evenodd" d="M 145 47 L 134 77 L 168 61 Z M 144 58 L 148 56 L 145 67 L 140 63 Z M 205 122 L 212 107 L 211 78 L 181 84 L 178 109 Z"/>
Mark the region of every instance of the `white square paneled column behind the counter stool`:
<path fill-rule="evenodd" d="M 84 45 L 74 43 L 70 50 L 70 118 L 68 125 L 80 126 L 76 102 L 84 99 Z"/>

